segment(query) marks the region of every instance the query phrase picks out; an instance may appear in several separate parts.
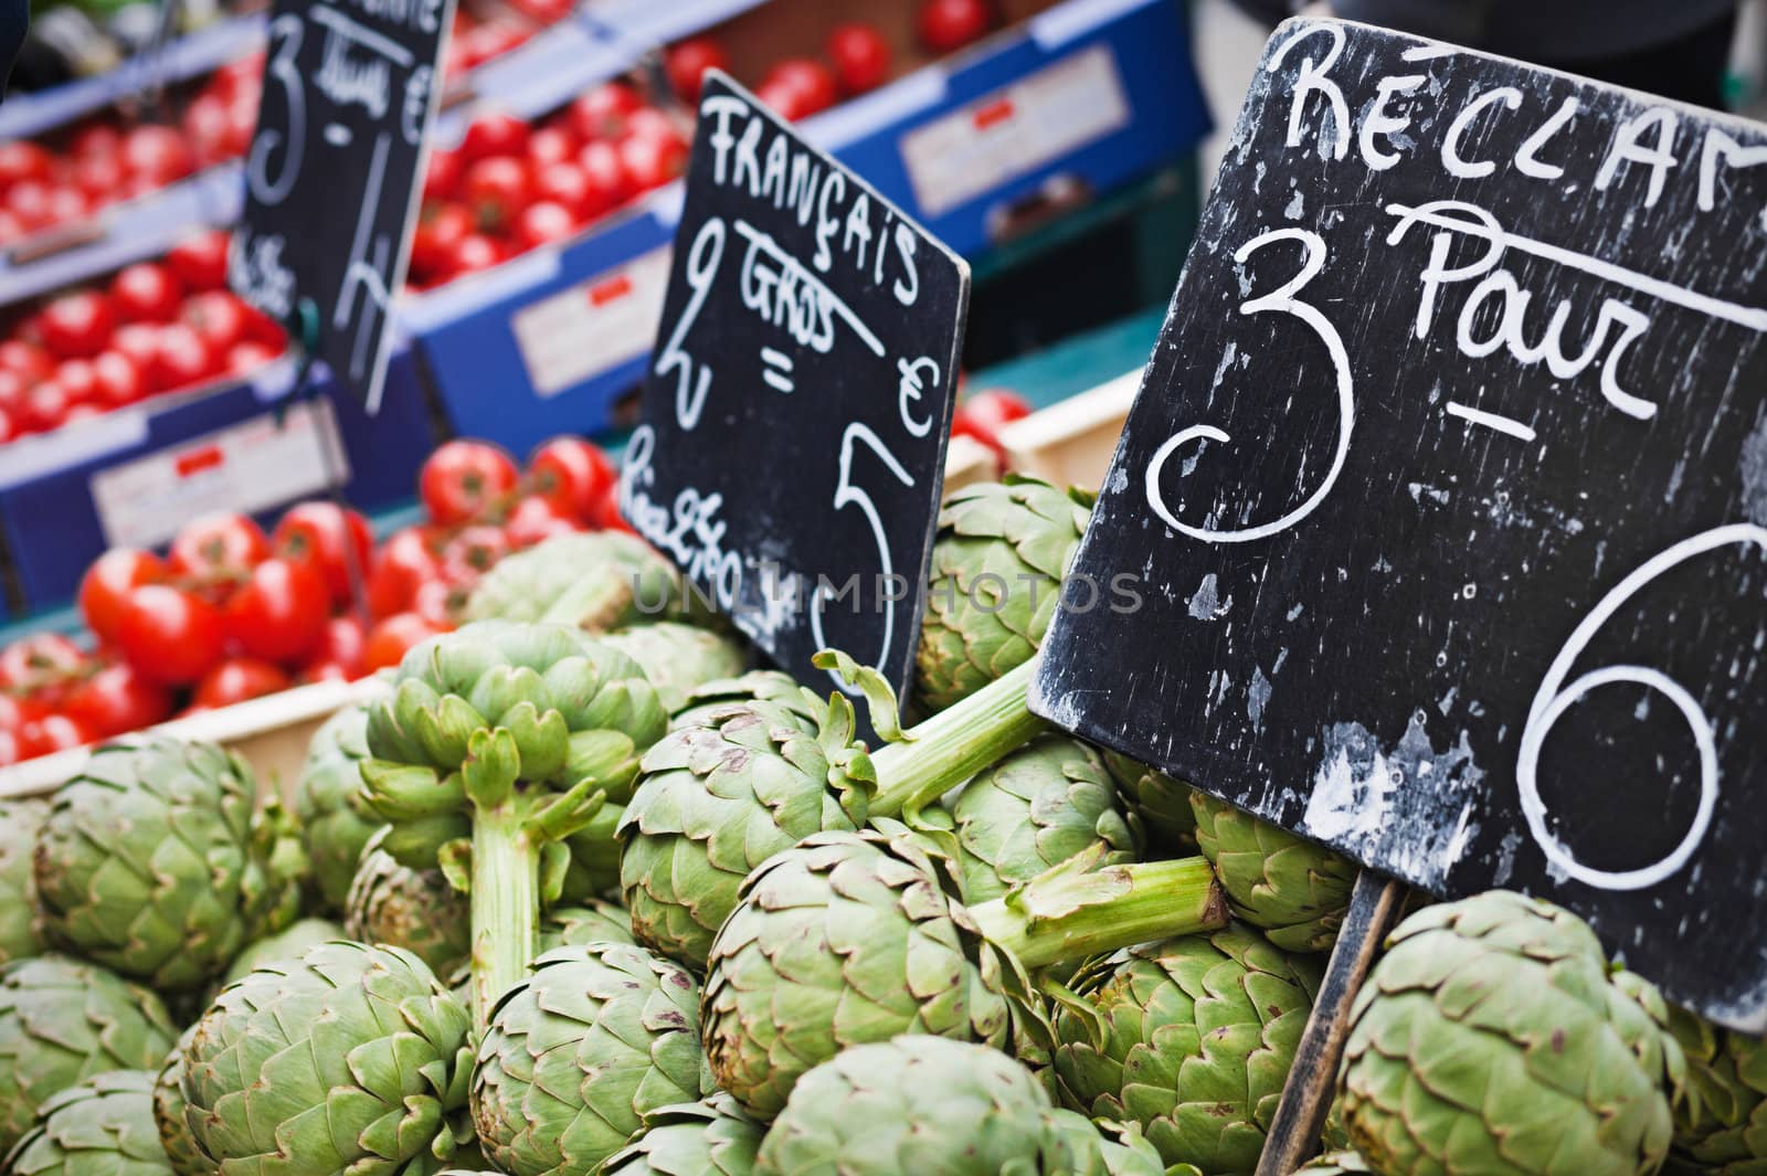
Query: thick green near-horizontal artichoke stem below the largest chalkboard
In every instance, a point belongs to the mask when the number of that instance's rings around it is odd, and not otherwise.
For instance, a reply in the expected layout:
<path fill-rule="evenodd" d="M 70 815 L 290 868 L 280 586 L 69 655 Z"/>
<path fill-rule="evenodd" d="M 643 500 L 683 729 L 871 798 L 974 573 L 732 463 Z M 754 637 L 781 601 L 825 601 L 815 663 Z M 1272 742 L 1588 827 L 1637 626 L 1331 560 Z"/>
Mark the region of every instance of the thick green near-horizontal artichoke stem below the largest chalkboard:
<path fill-rule="evenodd" d="M 1207 858 L 1096 871 L 1058 865 L 968 909 L 982 934 L 1028 969 L 1214 931 L 1230 916 Z"/>

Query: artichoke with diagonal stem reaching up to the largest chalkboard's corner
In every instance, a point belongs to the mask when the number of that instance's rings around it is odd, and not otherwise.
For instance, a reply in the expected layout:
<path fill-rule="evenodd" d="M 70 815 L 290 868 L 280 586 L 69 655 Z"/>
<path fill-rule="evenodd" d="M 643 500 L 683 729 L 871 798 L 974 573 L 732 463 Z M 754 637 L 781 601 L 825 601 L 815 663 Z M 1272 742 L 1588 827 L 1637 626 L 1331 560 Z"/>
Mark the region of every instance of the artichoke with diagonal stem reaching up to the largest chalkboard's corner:
<path fill-rule="evenodd" d="M 1043 729 L 1025 706 L 1028 666 L 903 731 L 876 671 L 832 652 L 818 664 L 861 685 L 889 745 L 868 752 L 852 703 L 815 703 L 808 690 L 797 706 L 732 703 L 670 731 L 645 756 L 618 826 L 620 890 L 640 943 L 705 968 L 749 871 L 811 833 L 914 812 Z"/>

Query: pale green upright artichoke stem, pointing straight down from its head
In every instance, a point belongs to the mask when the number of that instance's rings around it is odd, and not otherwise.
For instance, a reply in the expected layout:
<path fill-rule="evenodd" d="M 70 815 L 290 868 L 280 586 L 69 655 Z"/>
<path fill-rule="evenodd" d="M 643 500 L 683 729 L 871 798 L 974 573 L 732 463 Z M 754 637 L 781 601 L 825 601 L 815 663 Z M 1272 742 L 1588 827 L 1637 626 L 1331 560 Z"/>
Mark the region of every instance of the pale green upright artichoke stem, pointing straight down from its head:
<path fill-rule="evenodd" d="M 528 832 L 530 798 L 512 791 L 472 821 L 472 1015 L 528 976 L 541 918 L 541 846 Z"/>

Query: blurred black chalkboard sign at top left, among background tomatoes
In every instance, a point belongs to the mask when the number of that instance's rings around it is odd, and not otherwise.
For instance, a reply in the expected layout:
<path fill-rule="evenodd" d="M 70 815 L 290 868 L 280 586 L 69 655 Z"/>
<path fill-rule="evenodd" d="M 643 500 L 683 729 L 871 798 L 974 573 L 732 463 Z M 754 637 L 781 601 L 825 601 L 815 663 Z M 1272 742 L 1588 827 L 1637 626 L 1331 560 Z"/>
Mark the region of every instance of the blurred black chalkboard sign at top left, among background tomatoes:
<path fill-rule="evenodd" d="M 380 408 L 454 0 L 276 0 L 228 279 Z"/>

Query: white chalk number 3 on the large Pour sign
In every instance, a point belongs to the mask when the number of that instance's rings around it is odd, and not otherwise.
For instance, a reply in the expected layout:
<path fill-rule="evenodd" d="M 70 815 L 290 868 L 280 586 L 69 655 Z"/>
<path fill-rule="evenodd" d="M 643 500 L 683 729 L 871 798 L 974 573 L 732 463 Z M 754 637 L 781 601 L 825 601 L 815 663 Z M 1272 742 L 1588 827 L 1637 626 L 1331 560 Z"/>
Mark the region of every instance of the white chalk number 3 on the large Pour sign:
<path fill-rule="evenodd" d="M 1306 323 L 1308 328 L 1313 330 L 1315 335 L 1318 335 L 1320 343 L 1325 344 L 1325 351 L 1331 355 L 1332 373 L 1338 378 L 1338 452 L 1332 457 L 1331 470 L 1325 473 L 1325 480 L 1320 482 L 1318 489 L 1315 489 L 1313 494 L 1304 503 L 1301 503 L 1283 517 L 1276 519 L 1274 523 L 1265 523 L 1262 526 L 1248 526 L 1237 531 L 1217 531 L 1205 526 L 1189 526 L 1187 523 L 1180 523 L 1177 516 L 1173 516 L 1172 510 L 1166 509 L 1164 494 L 1159 489 L 1159 475 L 1164 470 L 1166 461 L 1180 447 L 1189 445 L 1191 441 L 1196 440 L 1228 441 L 1232 438 L 1223 429 L 1202 424 L 1175 433 L 1173 436 L 1166 438 L 1166 443 L 1154 452 L 1154 459 L 1147 466 L 1147 505 L 1152 507 L 1154 514 L 1157 514 L 1166 526 L 1179 531 L 1180 535 L 1189 535 L 1191 539 L 1202 539 L 1205 542 L 1216 542 L 1216 544 L 1244 544 L 1255 539 L 1265 539 L 1269 535 L 1276 535 L 1278 531 L 1286 531 L 1290 526 L 1293 526 L 1295 523 L 1308 517 L 1309 514 L 1313 514 L 1313 510 L 1318 509 L 1318 505 L 1325 500 L 1325 494 L 1329 494 L 1331 487 L 1338 482 L 1338 475 L 1343 473 L 1345 457 L 1348 457 L 1350 454 L 1350 426 L 1354 424 L 1355 417 L 1355 396 L 1350 380 L 1350 355 L 1348 351 L 1345 351 L 1343 339 L 1338 335 L 1338 328 L 1332 327 L 1323 314 L 1320 314 L 1318 307 L 1309 305 L 1295 297 L 1308 283 L 1311 283 L 1315 277 L 1320 275 L 1320 270 L 1325 268 L 1325 238 L 1322 238 L 1318 233 L 1299 228 L 1272 230 L 1240 245 L 1239 251 L 1233 254 L 1233 261 L 1244 265 L 1251 254 L 1279 240 L 1299 240 L 1301 244 L 1306 245 L 1308 256 L 1306 261 L 1302 261 L 1301 265 L 1301 272 L 1295 274 L 1283 288 L 1272 290 L 1262 298 L 1248 298 L 1246 302 L 1240 304 L 1239 313 L 1290 314 Z"/>

